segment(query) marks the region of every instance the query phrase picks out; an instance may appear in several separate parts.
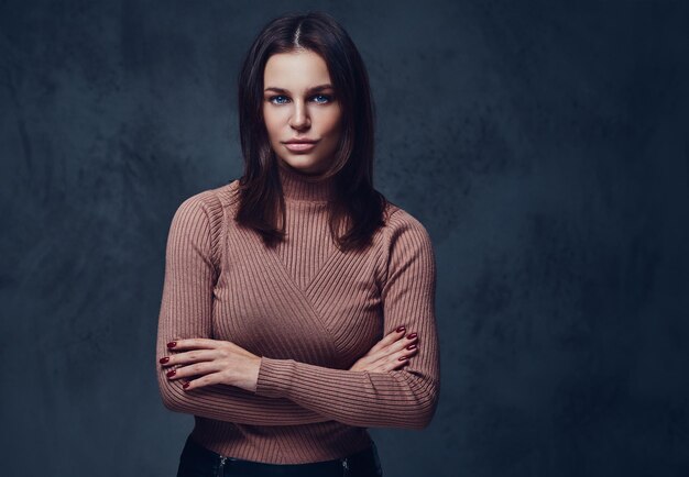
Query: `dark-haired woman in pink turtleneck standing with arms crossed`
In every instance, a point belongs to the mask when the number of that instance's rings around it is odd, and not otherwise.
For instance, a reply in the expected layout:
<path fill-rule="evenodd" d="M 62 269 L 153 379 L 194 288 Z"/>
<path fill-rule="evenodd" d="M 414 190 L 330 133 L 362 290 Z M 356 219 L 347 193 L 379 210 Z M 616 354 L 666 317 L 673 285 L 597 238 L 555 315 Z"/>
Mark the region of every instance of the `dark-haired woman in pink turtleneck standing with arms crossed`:
<path fill-rule="evenodd" d="M 184 201 L 167 241 L 158 384 L 195 417 L 177 475 L 382 475 L 365 428 L 437 406 L 436 265 L 372 187 L 365 67 L 331 16 L 284 15 L 239 107 L 244 175 Z"/>

